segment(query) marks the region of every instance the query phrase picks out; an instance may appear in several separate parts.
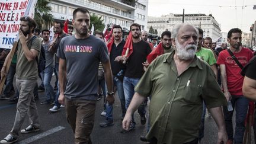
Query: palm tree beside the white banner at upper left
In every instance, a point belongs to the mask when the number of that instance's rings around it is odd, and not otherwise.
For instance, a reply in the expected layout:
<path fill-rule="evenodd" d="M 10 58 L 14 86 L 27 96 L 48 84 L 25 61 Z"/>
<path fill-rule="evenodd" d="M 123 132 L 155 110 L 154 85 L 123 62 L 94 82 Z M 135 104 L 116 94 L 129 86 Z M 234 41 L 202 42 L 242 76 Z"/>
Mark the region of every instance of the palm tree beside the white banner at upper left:
<path fill-rule="evenodd" d="M 52 11 L 52 8 L 49 7 L 48 0 L 38 0 L 36 4 L 34 20 L 37 23 L 37 27 L 42 28 L 50 28 L 53 23 L 53 15 L 49 14 Z"/>

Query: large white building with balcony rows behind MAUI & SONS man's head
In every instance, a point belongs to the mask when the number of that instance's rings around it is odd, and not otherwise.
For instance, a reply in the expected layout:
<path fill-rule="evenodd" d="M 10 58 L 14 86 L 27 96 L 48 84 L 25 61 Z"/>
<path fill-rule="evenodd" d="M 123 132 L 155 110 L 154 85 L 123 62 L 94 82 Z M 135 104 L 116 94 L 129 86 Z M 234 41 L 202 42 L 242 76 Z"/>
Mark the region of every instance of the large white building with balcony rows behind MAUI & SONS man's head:
<path fill-rule="evenodd" d="M 141 2 L 140 2 L 141 1 Z M 123 0 L 52 0 L 52 15 L 55 20 L 72 20 L 72 13 L 76 8 L 84 7 L 92 14 L 101 17 L 105 25 L 119 24 L 124 30 L 129 30 L 130 25 L 137 21 L 146 28 L 143 20 L 147 20 L 148 0 L 123 1 Z M 136 4 L 137 2 L 137 4 Z M 139 7 L 139 8 L 137 8 Z M 138 14 L 140 14 L 138 16 Z"/>

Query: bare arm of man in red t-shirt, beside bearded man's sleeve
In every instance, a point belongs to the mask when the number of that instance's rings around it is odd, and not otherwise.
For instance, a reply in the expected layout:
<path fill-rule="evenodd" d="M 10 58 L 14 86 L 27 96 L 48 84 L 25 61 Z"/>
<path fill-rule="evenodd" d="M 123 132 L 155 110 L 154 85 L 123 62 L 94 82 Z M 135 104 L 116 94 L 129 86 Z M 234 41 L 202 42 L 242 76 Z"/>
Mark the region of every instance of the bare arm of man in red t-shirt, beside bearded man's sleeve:
<path fill-rule="evenodd" d="M 231 94 L 228 91 L 228 84 L 226 79 L 226 66 L 223 64 L 220 65 L 220 76 L 221 76 L 223 91 L 224 91 L 226 100 L 228 101 L 229 98 L 231 98 Z"/>

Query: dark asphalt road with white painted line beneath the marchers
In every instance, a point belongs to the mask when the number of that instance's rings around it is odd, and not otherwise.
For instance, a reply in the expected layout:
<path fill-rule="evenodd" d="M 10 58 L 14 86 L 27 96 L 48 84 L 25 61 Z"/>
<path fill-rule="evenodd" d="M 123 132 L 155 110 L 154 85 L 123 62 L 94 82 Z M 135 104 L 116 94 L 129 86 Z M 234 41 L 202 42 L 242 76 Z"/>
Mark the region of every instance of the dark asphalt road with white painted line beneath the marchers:
<path fill-rule="evenodd" d="M 53 76 L 53 79 L 55 76 Z M 92 143 L 102 144 L 130 144 L 143 143 L 139 140 L 141 135 L 146 134 L 146 126 L 140 124 L 139 114 L 135 113 L 136 129 L 129 133 L 120 133 L 121 131 L 121 107 L 120 101 L 115 95 L 116 101 L 114 104 L 114 125 L 110 127 L 100 127 L 99 124 L 104 120 L 100 116 L 103 111 L 103 99 L 97 102 L 95 111 L 94 129 L 91 134 Z M 49 108 L 52 105 L 41 105 L 40 101 L 44 100 L 44 92 L 39 92 L 40 100 L 37 100 L 37 110 L 41 130 L 36 133 L 21 134 L 17 143 L 73 143 L 73 132 L 65 117 L 65 108 L 61 108 L 56 113 L 50 113 Z M 7 100 L 0 101 L 0 139 L 8 135 L 14 124 L 16 104 L 9 104 Z M 189 119 L 189 118 L 188 118 Z M 22 129 L 29 124 L 28 117 L 25 119 Z M 204 139 L 202 143 L 216 143 L 217 126 L 212 118 L 206 118 Z M 252 140 L 254 137 L 252 136 Z M 254 143 L 254 141 L 252 141 Z"/>

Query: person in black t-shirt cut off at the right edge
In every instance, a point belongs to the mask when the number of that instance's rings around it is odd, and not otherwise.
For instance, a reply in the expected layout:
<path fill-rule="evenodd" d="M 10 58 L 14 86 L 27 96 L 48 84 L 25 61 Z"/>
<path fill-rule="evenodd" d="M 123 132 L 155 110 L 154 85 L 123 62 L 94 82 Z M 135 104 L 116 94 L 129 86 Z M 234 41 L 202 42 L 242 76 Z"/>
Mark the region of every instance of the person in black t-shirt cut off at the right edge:
<path fill-rule="evenodd" d="M 244 83 L 242 91 L 245 97 L 256 101 L 256 57 L 254 56 L 251 61 L 242 69 L 241 74 L 244 75 Z M 254 113 L 254 121 L 256 121 L 256 114 Z M 253 124 L 254 137 L 256 137 L 256 123 Z M 256 143 L 256 139 L 254 139 Z"/>

